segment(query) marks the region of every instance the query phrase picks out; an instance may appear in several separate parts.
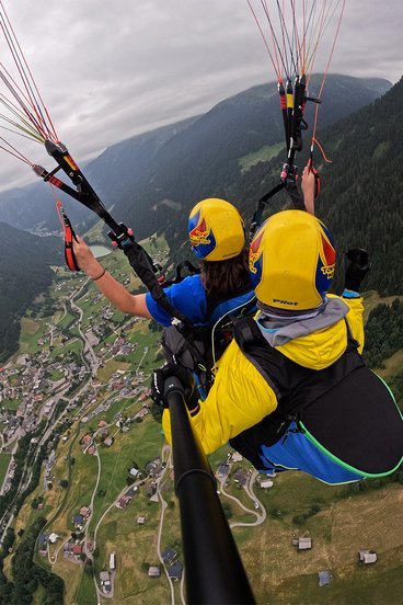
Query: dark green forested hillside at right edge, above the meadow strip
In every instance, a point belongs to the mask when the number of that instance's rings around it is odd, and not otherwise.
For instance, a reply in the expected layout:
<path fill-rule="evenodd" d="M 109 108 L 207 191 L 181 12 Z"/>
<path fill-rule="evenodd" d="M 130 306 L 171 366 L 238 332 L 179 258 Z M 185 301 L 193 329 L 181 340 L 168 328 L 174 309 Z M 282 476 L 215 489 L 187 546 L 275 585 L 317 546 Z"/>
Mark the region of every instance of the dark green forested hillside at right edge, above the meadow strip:
<path fill-rule="evenodd" d="M 403 294 L 403 79 L 382 99 L 326 130 L 333 160 L 323 170 L 320 216 L 339 250 L 360 246 L 371 254 L 366 287 Z"/>

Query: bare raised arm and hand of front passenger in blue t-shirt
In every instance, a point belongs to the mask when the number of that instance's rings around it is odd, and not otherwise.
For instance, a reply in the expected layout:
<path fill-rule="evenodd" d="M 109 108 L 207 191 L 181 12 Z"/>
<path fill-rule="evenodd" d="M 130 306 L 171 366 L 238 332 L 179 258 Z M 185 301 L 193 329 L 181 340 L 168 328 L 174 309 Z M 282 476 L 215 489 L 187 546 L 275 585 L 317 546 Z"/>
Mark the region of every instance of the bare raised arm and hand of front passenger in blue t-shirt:
<path fill-rule="evenodd" d="M 72 247 L 79 267 L 87 273 L 95 283 L 97 289 L 116 309 L 124 313 L 151 319 L 151 315 L 146 305 L 145 294 L 130 294 L 122 284 L 116 282 L 95 259 L 90 248 L 80 236 L 77 236 L 77 241 L 73 241 Z"/>

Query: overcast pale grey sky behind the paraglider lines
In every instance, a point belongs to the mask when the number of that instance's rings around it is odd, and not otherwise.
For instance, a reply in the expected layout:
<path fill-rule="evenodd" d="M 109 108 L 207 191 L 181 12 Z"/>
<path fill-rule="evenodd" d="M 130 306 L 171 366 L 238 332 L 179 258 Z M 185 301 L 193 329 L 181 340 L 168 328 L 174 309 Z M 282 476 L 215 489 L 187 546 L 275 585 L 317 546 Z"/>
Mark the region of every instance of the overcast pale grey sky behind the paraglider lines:
<path fill-rule="evenodd" d="M 275 80 L 246 0 L 2 2 L 58 135 L 79 162 Z M 396 82 L 402 19 L 402 0 L 347 0 L 331 71 Z M 0 61 L 8 56 L 1 39 Z M 38 146 L 28 157 L 51 167 Z M 35 180 L 2 150 L 0 158 L 0 191 Z"/>

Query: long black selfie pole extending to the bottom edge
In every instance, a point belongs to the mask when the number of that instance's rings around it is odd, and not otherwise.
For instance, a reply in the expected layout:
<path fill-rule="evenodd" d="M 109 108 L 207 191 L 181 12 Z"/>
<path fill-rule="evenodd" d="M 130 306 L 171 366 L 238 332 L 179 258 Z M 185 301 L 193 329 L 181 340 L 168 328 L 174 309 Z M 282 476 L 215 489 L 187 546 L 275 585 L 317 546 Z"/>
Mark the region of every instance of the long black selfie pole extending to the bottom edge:
<path fill-rule="evenodd" d="M 216 479 L 194 434 L 183 392 L 168 395 L 175 492 L 180 501 L 188 605 L 250 605 L 255 600 L 217 494 Z"/>

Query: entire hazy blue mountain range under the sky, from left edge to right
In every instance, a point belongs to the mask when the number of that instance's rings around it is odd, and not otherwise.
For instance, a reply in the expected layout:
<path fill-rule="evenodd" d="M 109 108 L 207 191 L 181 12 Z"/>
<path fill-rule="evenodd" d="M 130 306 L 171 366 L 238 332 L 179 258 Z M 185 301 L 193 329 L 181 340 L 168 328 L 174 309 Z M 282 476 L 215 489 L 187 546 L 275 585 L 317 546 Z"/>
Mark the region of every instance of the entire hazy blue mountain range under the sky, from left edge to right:
<path fill-rule="evenodd" d="M 313 77 L 312 94 L 320 81 Z M 381 79 L 329 76 L 320 124 L 334 123 L 390 87 Z M 309 122 L 312 111 L 307 110 Z M 113 206 L 116 219 L 133 225 L 137 237 L 146 237 L 176 221 L 174 207 L 182 217 L 203 197 L 231 194 L 240 178 L 239 159 L 283 138 L 276 85 L 265 84 L 222 101 L 198 118 L 117 144 L 84 172 L 105 205 Z M 85 221 L 81 230 L 96 220 L 74 201 L 67 209 L 73 222 Z M 43 183 L 0 194 L 0 213 L 2 220 L 21 228 L 38 222 L 57 228 L 54 199 Z"/>

